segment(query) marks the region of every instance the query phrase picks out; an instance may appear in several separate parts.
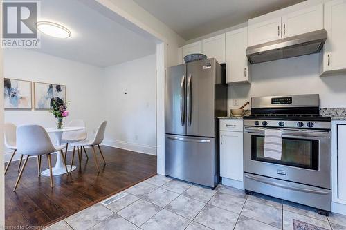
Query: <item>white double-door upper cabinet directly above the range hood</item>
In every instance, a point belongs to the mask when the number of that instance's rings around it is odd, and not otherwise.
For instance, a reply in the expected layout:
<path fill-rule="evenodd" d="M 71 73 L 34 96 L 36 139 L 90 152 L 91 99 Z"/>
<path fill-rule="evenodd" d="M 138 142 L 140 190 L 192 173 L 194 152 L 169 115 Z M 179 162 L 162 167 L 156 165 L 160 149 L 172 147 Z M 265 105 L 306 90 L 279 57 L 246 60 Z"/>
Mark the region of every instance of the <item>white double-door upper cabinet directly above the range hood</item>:
<path fill-rule="evenodd" d="M 248 21 L 248 46 L 301 35 L 323 28 L 323 4 L 273 12 L 273 18 L 263 15 Z M 280 15 L 281 14 L 281 15 Z M 275 16 L 274 16 L 275 15 Z M 279 17 L 277 17 L 279 16 Z"/>

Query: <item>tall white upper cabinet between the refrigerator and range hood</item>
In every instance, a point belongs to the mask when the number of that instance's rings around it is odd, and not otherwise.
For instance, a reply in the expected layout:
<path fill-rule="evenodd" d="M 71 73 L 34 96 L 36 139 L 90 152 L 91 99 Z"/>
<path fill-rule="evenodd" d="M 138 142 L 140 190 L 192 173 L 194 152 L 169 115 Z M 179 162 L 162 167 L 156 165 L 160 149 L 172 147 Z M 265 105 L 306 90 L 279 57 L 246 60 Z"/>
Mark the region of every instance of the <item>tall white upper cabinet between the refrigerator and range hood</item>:
<path fill-rule="evenodd" d="M 228 84 L 250 82 L 246 57 L 248 28 L 226 33 L 226 82 Z"/>

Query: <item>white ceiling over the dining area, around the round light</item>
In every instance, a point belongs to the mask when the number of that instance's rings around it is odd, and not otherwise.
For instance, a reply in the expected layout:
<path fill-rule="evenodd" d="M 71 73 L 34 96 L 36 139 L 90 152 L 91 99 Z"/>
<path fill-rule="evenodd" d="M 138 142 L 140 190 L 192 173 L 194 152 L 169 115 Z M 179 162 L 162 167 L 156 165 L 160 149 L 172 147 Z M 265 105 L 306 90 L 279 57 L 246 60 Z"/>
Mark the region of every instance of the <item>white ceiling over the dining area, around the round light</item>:
<path fill-rule="evenodd" d="M 93 66 L 112 66 L 156 52 L 156 44 L 104 17 L 78 0 L 41 1 L 39 21 L 53 21 L 71 30 L 69 39 L 41 35 L 41 48 L 56 57 Z"/>

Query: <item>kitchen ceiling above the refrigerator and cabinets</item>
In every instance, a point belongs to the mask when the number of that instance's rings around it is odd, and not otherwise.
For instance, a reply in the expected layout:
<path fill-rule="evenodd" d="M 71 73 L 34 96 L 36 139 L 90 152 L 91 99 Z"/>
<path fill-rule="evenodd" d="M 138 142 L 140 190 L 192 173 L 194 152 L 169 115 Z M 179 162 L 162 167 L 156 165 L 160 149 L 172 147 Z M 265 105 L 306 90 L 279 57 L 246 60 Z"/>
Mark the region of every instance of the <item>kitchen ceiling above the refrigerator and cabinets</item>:
<path fill-rule="evenodd" d="M 304 0 L 134 0 L 190 40 Z"/>

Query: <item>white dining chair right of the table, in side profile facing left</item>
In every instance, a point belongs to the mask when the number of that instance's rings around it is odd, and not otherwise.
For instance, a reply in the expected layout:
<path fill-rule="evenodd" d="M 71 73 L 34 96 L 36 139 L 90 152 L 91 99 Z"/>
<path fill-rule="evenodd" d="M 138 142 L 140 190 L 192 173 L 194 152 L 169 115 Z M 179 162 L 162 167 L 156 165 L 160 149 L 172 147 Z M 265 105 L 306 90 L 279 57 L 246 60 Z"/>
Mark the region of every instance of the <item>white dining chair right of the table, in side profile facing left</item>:
<path fill-rule="evenodd" d="M 81 142 L 71 143 L 71 146 L 73 146 L 71 169 L 72 169 L 72 165 L 73 165 L 73 158 L 75 157 L 75 148 L 76 147 L 91 147 L 91 148 L 93 148 L 93 155 L 95 157 L 96 168 L 98 169 L 98 172 L 100 172 L 100 169 L 98 167 L 98 157 L 96 156 L 96 152 L 95 152 L 95 146 L 98 146 L 98 149 L 99 149 L 100 154 L 102 156 L 103 162 L 104 162 L 104 164 L 106 164 L 106 160 L 104 160 L 104 155 L 103 155 L 102 150 L 100 148 L 100 144 L 104 139 L 104 132 L 106 131 L 106 126 L 107 126 L 107 121 L 104 121 L 100 124 L 100 126 L 98 127 L 98 131 L 96 132 L 96 135 L 93 138 L 93 140 L 83 140 Z M 80 154 L 80 153 L 78 153 L 78 154 Z"/>

